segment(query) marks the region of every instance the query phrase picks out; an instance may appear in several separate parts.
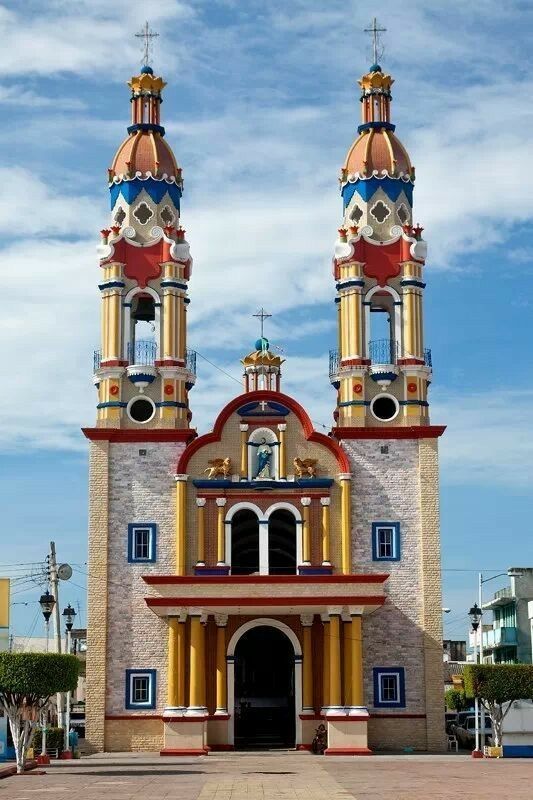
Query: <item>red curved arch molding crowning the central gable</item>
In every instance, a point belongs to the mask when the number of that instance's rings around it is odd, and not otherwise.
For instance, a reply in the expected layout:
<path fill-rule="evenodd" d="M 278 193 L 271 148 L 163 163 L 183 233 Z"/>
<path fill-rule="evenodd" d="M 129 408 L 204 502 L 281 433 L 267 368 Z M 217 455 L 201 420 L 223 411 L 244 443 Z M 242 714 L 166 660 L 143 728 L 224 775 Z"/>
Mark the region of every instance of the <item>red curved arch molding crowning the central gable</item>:
<path fill-rule="evenodd" d="M 339 471 L 350 472 L 350 462 L 348 461 L 348 456 L 342 447 L 331 437 L 315 431 L 307 411 L 305 411 L 305 409 L 299 403 L 297 403 L 296 400 L 286 394 L 282 394 L 281 392 L 261 390 L 238 395 L 238 397 L 235 397 L 227 404 L 227 406 L 222 409 L 216 419 L 211 433 L 205 433 L 203 436 L 199 436 L 198 439 L 195 439 L 194 442 L 191 442 L 191 444 L 185 448 L 178 462 L 178 474 L 184 475 L 187 472 L 189 461 L 198 450 L 201 450 L 202 447 L 205 447 L 207 444 L 220 441 L 224 425 L 238 408 L 246 403 L 253 403 L 254 401 L 260 403 L 263 400 L 266 402 L 272 400 L 275 403 L 281 403 L 282 405 L 286 406 L 300 421 L 307 441 L 315 442 L 316 444 L 321 444 L 324 447 L 327 447 L 327 449 L 333 453 L 337 459 Z M 281 420 L 282 417 L 280 417 L 280 421 Z"/>

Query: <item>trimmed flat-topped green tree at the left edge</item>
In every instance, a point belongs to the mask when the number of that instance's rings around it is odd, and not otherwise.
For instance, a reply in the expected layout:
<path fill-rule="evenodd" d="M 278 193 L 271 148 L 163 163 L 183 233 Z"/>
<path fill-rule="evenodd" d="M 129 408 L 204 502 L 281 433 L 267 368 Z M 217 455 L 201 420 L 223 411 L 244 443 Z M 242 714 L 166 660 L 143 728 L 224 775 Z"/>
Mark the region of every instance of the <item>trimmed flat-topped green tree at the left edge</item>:
<path fill-rule="evenodd" d="M 80 662 L 55 653 L 0 653 L 0 707 L 9 720 L 17 759 L 24 772 L 39 715 L 56 692 L 74 691 Z"/>

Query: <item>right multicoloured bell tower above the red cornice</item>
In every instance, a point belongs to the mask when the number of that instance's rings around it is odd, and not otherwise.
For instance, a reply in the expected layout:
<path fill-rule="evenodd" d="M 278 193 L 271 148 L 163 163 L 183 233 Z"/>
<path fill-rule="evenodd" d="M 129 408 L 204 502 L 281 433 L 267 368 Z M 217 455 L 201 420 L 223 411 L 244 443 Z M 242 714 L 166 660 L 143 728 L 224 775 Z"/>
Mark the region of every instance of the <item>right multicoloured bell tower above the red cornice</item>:
<path fill-rule="evenodd" d="M 391 122 L 393 82 L 378 63 L 361 77 L 362 121 L 340 173 L 338 349 L 330 353 L 340 428 L 429 424 L 427 246 L 413 224 L 415 169 Z"/>

